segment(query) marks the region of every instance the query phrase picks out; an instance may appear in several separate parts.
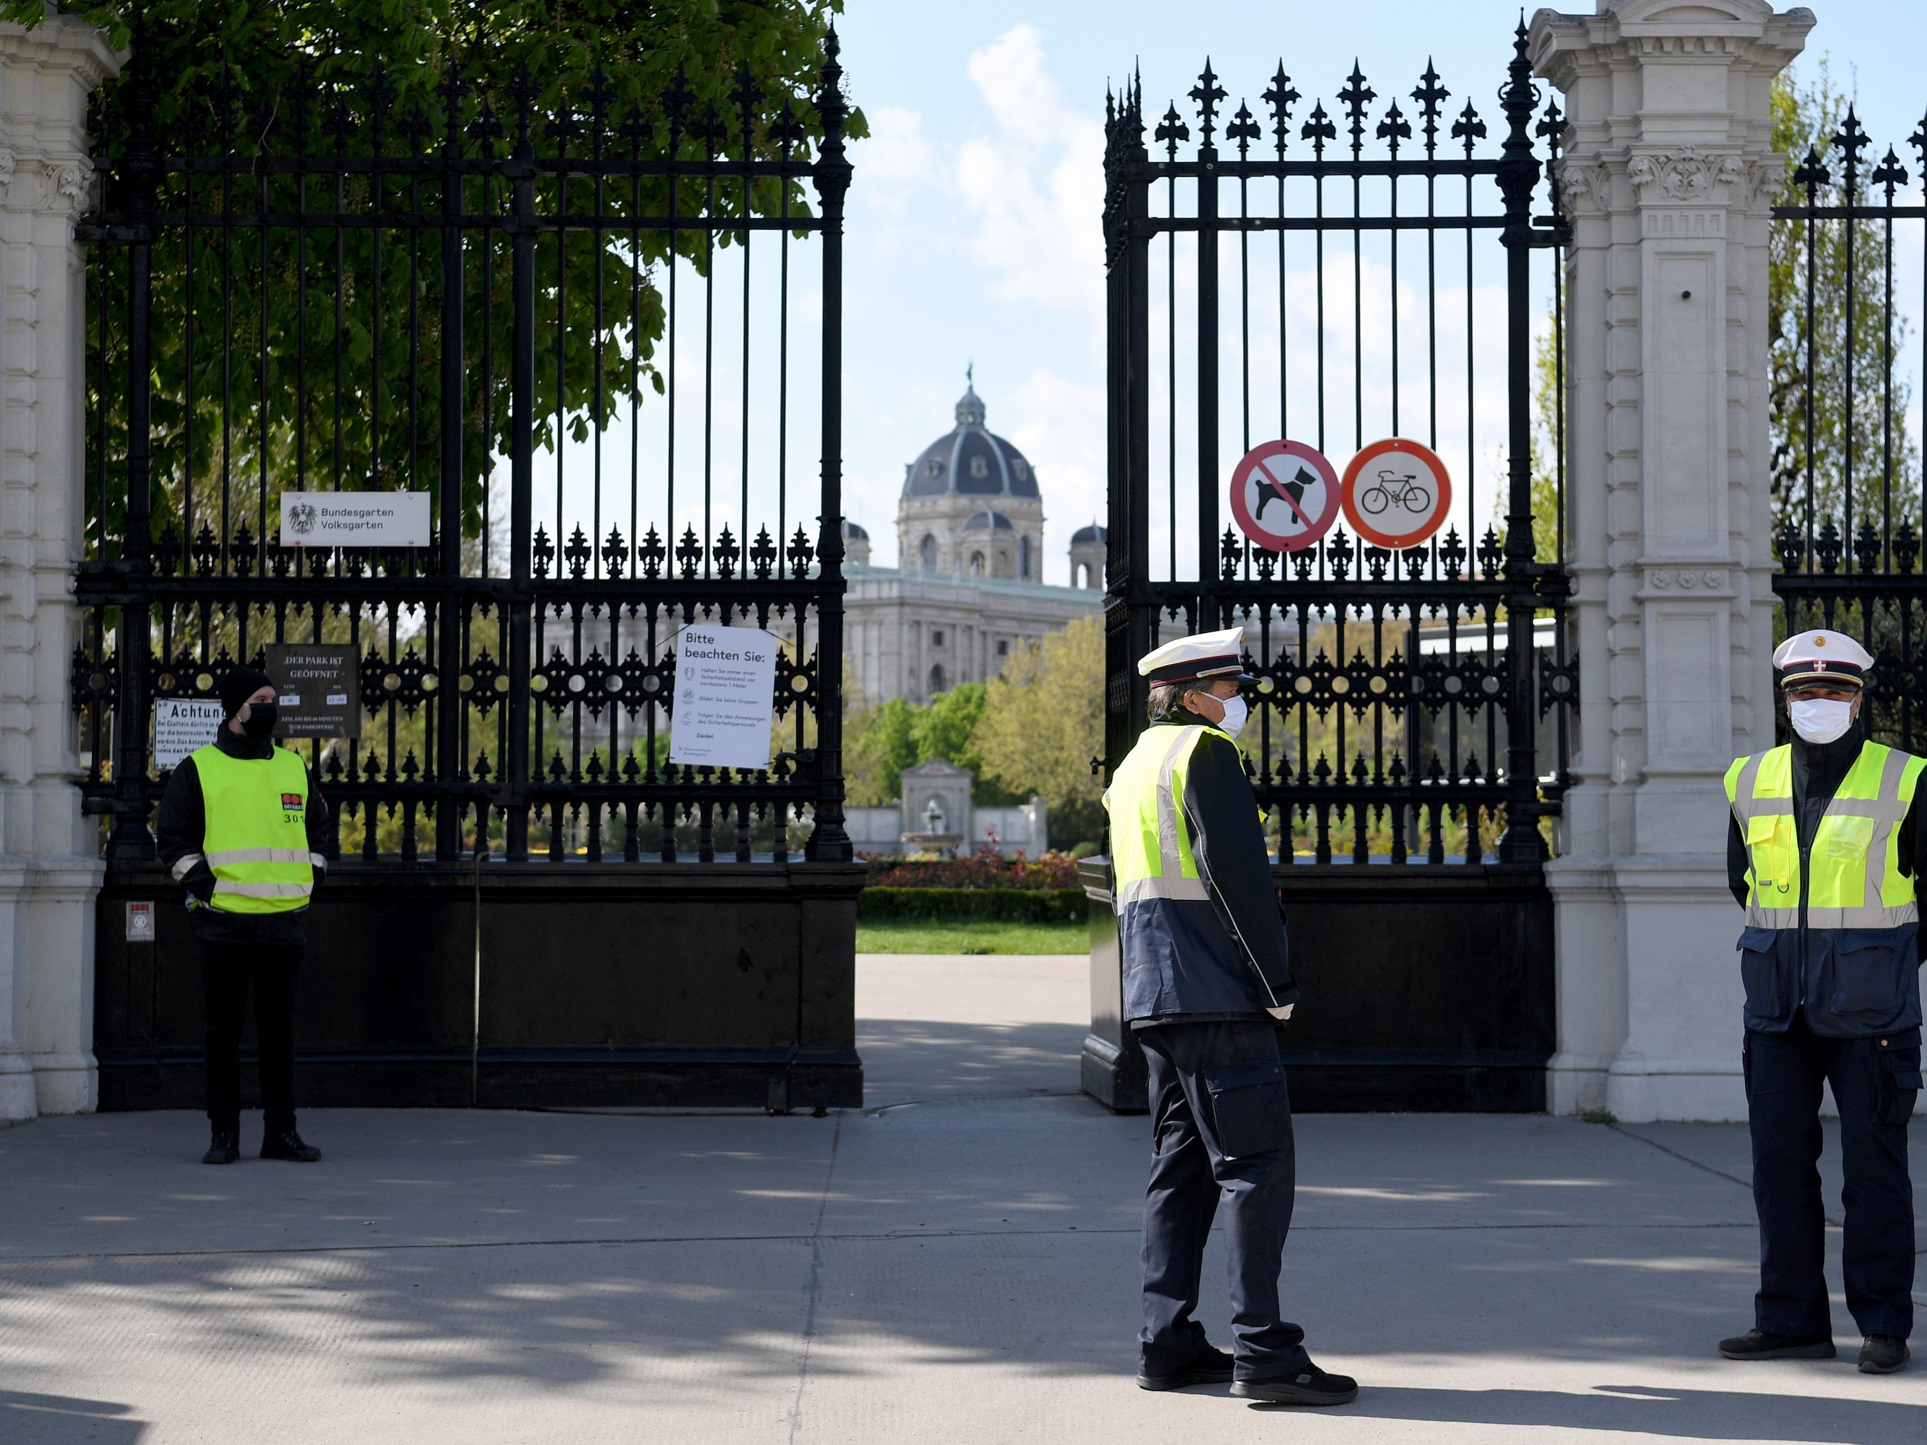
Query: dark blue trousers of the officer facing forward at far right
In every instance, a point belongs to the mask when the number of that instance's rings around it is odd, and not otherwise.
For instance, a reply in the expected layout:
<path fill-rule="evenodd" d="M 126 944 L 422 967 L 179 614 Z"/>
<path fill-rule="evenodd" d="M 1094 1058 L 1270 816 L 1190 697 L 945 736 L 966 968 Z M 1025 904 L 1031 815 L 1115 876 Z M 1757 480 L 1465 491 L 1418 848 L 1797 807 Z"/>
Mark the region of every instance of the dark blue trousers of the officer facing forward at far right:
<path fill-rule="evenodd" d="M 1840 1108 L 1846 1308 L 1863 1335 L 1914 1331 L 1914 1183 L 1908 1116 L 1921 1083 L 1919 1033 L 1827 1038 L 1794 1015 L 1746 1033 L 1746 1108 L 1759 1210 L 1754 1326 L 1833 1337 L 1827 1216 L 1819 1193 L 1821 1081 Z"/>

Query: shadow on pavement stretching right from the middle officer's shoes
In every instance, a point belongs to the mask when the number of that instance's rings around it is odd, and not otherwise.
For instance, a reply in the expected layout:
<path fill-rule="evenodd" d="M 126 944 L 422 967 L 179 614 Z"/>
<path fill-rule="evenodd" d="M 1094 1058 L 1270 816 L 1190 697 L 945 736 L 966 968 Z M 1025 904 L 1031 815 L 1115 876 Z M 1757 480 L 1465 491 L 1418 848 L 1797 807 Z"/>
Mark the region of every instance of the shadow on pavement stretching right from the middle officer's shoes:
<path fill-rule="evenodd" d="M 1850 1366 L 1848 1366 L 1850 1368 Z M 1597 1385 L 1597 1393 L 1545 1389 L 1366 1389 L 1345 1416 L 1453 1426 L 1540 1426 L 1657 1435 L 1661 1439 L 1865 1441 L 1921 1439 L 1927 1405 L 1836 1395 L 1754 1395 L 1667 1385 Z M 1256 1405 L 1266 1412 L 1291 1406 Z"/>

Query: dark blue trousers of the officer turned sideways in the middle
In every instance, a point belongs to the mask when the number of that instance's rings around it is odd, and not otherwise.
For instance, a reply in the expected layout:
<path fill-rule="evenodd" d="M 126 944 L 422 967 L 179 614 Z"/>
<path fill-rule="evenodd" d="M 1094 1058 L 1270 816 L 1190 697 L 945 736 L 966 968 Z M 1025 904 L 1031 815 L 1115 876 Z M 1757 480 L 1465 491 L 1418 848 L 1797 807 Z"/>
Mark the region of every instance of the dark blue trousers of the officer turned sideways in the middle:
<path fill-rule="evenodd" d="M 1235 1374 L 1297 1374 L 1307 1364 L 1305 1331 L 1278 1318 L 1278 1268 L 1297 1187 L 1278 1033 L 1270 1023 L 1160 1023 L 1139 1029 L 1137 1040 L 1150 1065 L 1154 1146 L 1141 1368 L 1174 1374 L 1210 1349 L 1191 1316 L 1222 1196 Z"/>

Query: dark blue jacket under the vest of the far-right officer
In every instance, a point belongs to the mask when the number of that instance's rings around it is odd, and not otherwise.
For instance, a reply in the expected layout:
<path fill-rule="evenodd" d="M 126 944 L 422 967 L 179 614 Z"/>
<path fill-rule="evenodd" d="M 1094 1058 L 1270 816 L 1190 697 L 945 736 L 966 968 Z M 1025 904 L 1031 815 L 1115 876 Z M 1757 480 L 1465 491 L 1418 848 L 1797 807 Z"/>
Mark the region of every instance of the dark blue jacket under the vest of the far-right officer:
<path fill-rule="evenodd" d="M 1794 736 L 1794 828 L 1802 854 L 1813 842 L 1827 803 L 1840 790 L 1840 782 L 1854 759 L 1860 757 L 1865 732 L 1860 722 L 1829 744 L 1809 744 L 1798 734 Z M 1923 792 L 1927 788 L 1915 792 L 1894 838 L 1900 871 L 1914 879 L 1915 900 L 1923 896 L 1919 863 L 1927 861 Z M 1746 836 L 1740 832 L 1740 821 L 1729 813 L 1727 886 L 1740 907 L 1746 907 Z M 1806 888 L 1802 877 L 1802 898 Z M 1921 1021 L 1919 963 L 1917 925 L 1904 929 L 1746 927 L 1740 931 L 1746 1027 L 1759 1033 L 1784 1033 L 1794 1015 L 1800 1013 L 1817 1035 L 1836 1038 L 1902 1035 L 1917 1029 Z"/>

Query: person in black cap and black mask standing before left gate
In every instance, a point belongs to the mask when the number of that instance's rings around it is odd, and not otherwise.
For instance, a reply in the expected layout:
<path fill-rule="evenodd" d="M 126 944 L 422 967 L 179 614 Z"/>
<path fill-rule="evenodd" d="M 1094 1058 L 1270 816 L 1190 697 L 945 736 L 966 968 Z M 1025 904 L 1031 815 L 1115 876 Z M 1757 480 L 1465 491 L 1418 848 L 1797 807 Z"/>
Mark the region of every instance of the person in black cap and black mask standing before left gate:
<path fill-rule="evenodd" d="M 328 873 L 328 813 L 299 753 L 274 746 L 274 682 L 235 667 L 220 682 L 216 740 L 183 759 L 160 798 L 160 861 L 187 888 L 200 940 L 212 1144 L 204 1164 L 241 1158 L 241 1017 L 254 988 L 260 1156 L 312 1164 L 295 1131 L 295 986 L 301 919 Z"/>

